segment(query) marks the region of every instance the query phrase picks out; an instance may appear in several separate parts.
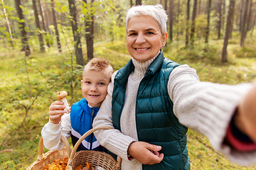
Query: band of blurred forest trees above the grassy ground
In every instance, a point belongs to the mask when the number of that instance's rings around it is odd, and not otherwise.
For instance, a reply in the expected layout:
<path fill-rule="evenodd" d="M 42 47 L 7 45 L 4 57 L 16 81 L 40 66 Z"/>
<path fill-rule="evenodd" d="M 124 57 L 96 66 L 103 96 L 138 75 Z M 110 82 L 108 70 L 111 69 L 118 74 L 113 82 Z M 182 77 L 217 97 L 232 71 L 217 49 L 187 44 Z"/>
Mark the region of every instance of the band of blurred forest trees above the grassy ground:
<path fill-rule="evenodd" d="M 193 47 L 198 40 L 224 39 L 225 33 L 240 35 L 245 46 L 247 34 L 255 27 L 255 0 L 1 0 L 1 39 L 25 51 L 73 44 L 79 65 L 93 57 L 93 44 L 105 40 L 124 40 L 125 15 L 129 6 L 162 4 L 169 14 L 169 40 Z M 233 15 L 228 18 L 228 8 Z M 225 32 L 228 21 L 229 30 Z M 36 23 L 36 24 L 35 24 Z M 35 38 L 38 37 L 38 40 Z M 17 41 L 21 40 L 22 45 Z M 46 42 L 46 43 L 44 43 Z M 228 41 L 226 41 L 228 45 Z M 52 46 L 51 46 L 52 45 Z M 226 45 L 223 44 L 223 47 Z M 225 52 L 224 52 L 225 53 Z M 225 55 L 225 54 L 224 54 Z M 225 57 L 225 56 L 224 56 Z M 227 60 L 223 60 L 226 62 Z"/>

